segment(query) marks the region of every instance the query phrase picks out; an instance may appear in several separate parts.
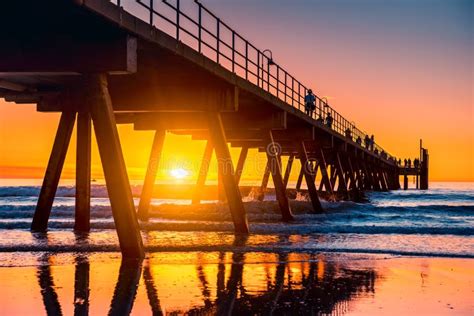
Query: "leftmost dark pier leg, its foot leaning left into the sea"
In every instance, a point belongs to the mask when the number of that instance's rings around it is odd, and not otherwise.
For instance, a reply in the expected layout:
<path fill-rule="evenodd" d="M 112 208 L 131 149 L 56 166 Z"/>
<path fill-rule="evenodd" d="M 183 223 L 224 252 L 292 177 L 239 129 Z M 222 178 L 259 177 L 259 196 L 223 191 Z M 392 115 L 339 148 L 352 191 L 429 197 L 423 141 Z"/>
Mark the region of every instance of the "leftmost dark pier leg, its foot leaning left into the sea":
<path fill-rule="evenodd" d="M 58 189 L 59 178 L 63 170 L 64 159 L 66 158 L 67 148 L 71 140 L 75 112 L 63 112 L 59 120 L 56 138 L 54 139 L 53 149 L 49 157 L 48 167 L 44 175 L 43 185 L 41 186 L 38 203 L 36 204 L 35 215 L 31 224 L 32 231 L 46 231 L 48 220 L 51 215 L 54 196 Z"/>

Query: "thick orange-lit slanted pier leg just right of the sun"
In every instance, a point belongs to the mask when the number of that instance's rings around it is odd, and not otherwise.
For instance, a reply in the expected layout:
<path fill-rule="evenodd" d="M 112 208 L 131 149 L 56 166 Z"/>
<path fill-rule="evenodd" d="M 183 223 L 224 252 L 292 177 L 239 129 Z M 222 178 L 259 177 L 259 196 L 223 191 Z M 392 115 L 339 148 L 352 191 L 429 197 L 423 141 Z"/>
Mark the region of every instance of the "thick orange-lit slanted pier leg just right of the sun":
<path fill-rule="evenodd" d="M 222 119 L 217 112 L 209 114 L 209 134 L 216 150 L 217 164 L 221 172 L 221 179 L 227 195 L 232 220 L 234 221 L 235 232 L 248 233 L 249 228 L 242 196 L 235 182 L 234 167 L 229 147 L 227 146 Z"/>

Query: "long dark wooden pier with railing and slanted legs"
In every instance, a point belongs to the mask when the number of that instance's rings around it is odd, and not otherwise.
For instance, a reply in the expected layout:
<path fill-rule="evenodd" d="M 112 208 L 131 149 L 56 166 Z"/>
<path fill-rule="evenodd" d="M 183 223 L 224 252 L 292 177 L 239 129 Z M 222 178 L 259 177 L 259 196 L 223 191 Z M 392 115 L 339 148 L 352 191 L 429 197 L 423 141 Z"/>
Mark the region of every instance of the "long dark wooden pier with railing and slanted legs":
<path fill-rule="evenodd" d="M 314 115 L 306 115 L 303 83 L 200 2 L 180 3 L 128 1 L 124 7 L 125 2 L 108 0 L 26 0 L 0 4 L 0 97 L 34 103 L 41 112 L 62 113 L 32 230 L 47 229 L 76 121 L 75 229 L 90 229 L 93 127 L 127 257 L 143 256 L 138 219 L 148 217 L 166 131 L 207 140 L 193 202 L 199 203 L 208 161 L 215 152 L 225 192 L 222 199 L 229 205 L 237 233 L 249 232 L 239 180 L 251 148 L 267 157 L 262 197 L 271 175 L 284 221 L 293 219 L 287 189 L 295 159 L 302 165 L 296 189 L 304 179 L 315 213 L 324 212 L 321 194 L 357 200 L 364 191 L 399 189 L 399 177 L 413 174 L 378 144 L 365 145 L 368 134 L 326 100 L 316 96 Z M 206 28 L 209 23 L 215 28 Z M 329 114 L 330 126 L 318 119 Z M 155 132 L 138 213 L 117 124 Z M 229 144 L 241 148 L 236 166 Z M 425 154 L 422 168 L 416 170 L 421 189 L 428 188 L 426 150 Z M 283 156 L 289 157 L 285 167 Z M 321 181 L 316 183 L 318 173 Z"/>

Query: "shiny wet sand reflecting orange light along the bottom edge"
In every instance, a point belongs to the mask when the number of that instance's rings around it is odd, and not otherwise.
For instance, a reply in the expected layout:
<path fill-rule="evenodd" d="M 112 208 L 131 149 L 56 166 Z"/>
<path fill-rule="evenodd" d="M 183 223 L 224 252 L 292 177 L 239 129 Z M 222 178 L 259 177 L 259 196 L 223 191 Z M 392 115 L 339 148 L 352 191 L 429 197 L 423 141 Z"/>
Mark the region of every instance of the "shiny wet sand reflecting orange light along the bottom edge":
<path fill-rule="evenodd" d="M 474 261 L 376 254 L 0 254 L 1 315 L 472 315 Z"/>

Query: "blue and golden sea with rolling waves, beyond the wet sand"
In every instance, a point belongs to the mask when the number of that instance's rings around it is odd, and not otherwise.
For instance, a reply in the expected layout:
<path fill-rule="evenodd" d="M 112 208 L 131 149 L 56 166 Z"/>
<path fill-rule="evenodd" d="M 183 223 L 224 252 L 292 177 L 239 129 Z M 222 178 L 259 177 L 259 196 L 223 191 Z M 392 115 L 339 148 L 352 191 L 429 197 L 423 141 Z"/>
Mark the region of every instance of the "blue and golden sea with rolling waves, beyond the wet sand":
<path fill-rule="evenodd" d="M 3 181 L 0 252 L 119 250 L 103 184 L 92 186 L 92 231 L 84 235 L 72 231 L 72 185 L 59 187 L 48 233 L 32 234 L 29 228 L 39 190 L 37 184 L 28 181 Z M 138 185 L 133 187 L 134 195 L 139 191 Z M 372 192 L 368 193 L 370 202 L 363 204 L 323 201 L 324 214 L 308 213 L 309 203 L 303 198 L 292 204 L 296 220 L 291 223 L 279 220 L 273 198 L 267 196 L 264 203 L 246 202 L 251 235 L 239 245 L 234 243 L 233 225 L 224 206 L 192 208 L 186 206 L 189 200 L 154 199 L 152 217 L 142 225 L 144 243 L 149 251 L 238 247 L 263 252 L 474 257 L 474 183 L 432 183 L 428 191 Z M 135 203 L 138 205 L 137 198 Z"/>

